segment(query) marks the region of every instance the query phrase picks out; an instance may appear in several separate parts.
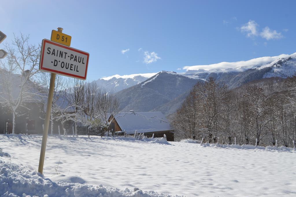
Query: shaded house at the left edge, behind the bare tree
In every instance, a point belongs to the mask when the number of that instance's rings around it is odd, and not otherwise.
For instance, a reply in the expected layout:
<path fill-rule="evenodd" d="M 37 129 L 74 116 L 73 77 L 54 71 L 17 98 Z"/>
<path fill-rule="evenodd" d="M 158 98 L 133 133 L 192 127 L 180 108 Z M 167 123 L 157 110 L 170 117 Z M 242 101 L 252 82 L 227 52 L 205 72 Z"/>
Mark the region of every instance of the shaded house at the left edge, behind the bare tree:
<path fill-rule="evenodd" d="M 44 121 L 44 98 L 38 96 L 38 85 L 30 80 L 22 87 L 22 81 L 28 71 L 22 74 L 8 74 L 8 71 L 0 69 L 0 133 L 12 133 L 12 111 L 9 103 L 19 102 L 20 95 L 22 102 L 17 108 L 18 115 L 15 117 L 15 133 L 38 134 L 42 132 Z M 7 82 L 9 76 L 9 82 Z M 23 94 L 20 94 L 20 91 Z M 8 91 L 8 90 L 9 91 Z M 9 92 L 9 93 L 8 93 Z"/>

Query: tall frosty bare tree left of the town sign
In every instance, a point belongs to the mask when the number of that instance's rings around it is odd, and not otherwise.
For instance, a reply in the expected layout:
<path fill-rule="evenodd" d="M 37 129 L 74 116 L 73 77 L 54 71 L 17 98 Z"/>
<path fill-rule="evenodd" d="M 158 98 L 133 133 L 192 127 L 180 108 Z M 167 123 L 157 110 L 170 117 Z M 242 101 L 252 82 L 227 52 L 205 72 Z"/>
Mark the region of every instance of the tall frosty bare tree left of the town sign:
<path fill-rule="evenodd" d="M 12 45 L 5 44 L 7 57 L 1 61 L 0 98 L 2 105 L 12 112 L 12 133 L 15 133 L 15 118 L 23 115 L 25 100 L 40 97 L 35 74 L 38 72 L 40 45 L 29 44 L 29 36 L 14 35 Z"/>

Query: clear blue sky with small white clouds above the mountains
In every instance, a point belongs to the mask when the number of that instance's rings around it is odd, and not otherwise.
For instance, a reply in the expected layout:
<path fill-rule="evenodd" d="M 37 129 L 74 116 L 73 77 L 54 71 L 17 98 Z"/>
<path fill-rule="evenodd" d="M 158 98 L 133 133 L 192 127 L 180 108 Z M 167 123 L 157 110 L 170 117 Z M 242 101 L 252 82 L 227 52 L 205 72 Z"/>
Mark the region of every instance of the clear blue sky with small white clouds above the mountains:
<path fill-rule="evenodd" d="M 0 30 L 32 43 L 64 28 L 88 79 L 296 52 L 295 1 L 1 1 Z M 0 48 L 1 48 L 0 44 Z M 182 70 L 177 70 L 177 69 Z"/>

